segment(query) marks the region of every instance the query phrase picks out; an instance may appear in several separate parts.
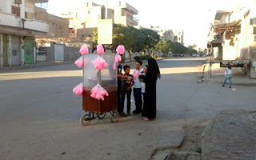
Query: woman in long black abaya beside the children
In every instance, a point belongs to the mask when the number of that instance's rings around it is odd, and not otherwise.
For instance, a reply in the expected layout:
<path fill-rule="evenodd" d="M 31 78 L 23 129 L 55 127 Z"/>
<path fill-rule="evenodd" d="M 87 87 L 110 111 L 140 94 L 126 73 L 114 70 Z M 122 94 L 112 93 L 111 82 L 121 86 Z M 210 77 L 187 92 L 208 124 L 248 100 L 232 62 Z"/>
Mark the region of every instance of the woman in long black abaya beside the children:
<path fill-rule="evenodd" d="M 142 116 L 144 120 L 152 120 L 156 118 L 156 105 L 157 105 L 157 79 L 160 78 L 160 70 L 158 63 L 154 58 L 147 60 L 149 69 L 146 72 L 146 76 L 140 79 L 141 82 L 145 82 L 146 90 L 143 103 Z"/>

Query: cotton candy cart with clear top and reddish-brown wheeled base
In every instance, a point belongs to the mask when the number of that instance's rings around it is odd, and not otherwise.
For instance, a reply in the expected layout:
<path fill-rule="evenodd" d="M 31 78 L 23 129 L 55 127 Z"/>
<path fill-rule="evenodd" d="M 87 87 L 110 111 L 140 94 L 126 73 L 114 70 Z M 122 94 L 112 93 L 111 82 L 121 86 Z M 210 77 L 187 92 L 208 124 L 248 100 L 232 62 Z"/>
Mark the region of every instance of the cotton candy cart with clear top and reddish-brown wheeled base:
<path fill-rule="evenodd" d="M 89 125 L 95 118 L 105 118 L 108 113 L 111 122 L 118 122 L 117 57 L 119 58 L 114 53 L 91 53 L 83 54 L 78 59 L 80 62 L 77 63 L 81 64 L 77 65 L 82 67 L 83 74 L 83 81 L 80 84 L 82 93 L 79 92 L 79 95 L 82 95 L 82 110 L 86 111 L 80 118 L 83 126 Z M 106 62 L 105 66 L 95 64 L 102 61 Z"/>

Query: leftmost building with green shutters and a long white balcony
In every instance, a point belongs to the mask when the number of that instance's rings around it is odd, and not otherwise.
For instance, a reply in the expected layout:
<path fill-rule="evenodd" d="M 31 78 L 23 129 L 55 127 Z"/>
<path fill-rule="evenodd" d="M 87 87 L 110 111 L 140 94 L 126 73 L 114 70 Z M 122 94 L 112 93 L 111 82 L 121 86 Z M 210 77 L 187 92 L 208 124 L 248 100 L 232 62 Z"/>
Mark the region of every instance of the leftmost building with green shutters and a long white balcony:
<path fill-rule="evenodd" d="M 35 35 L 46 34 L 49 30 L 47 22 L 34 18 L 35 2 L 48 0 L 0 1 L 1 66 L 35 62 Z"/>

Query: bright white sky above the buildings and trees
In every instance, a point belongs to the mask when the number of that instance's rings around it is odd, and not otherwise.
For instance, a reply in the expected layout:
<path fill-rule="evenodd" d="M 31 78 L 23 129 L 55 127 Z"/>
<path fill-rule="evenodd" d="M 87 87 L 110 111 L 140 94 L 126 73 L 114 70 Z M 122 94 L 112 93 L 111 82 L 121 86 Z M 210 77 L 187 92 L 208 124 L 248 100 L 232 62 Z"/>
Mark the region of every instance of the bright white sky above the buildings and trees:
<path fill-rule="evenodd" d="M 106 4 L 107 0 L 94 0 Z M 214 21 L 216 10 L 234 10 L 239 0 L 121 0 L 138 10 L 139 26 L 160 26 L 183 30 L 185 46 L 196 44 L 206 48 L 210 22 Z M 240 0 L 241 1 L 241 0 Z M 244 0 L 246 1 L 246 0 Z M 111 6 L 117 0 L 108 0 Z M 86 0 L 49 0 L 48 12 L 61 15 L 63 12 L 86 4 Z"/>

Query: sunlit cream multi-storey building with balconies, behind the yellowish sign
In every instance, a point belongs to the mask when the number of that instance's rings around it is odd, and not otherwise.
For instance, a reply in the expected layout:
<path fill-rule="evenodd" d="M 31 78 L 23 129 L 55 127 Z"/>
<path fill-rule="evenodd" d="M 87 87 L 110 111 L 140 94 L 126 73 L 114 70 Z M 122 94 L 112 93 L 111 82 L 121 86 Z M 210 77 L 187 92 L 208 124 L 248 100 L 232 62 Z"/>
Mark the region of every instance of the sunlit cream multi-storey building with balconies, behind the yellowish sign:
<path fill-rule="evenodd" d="M 138 26 L 138 20 L 134 18 L 134 14 L 138 14 L 138 10 L 126 2 L 117 2 L 116 6 L 110 6 L 107 9 L 107 19 L 113 19 L 114 23 L 124 26 Z M 88 1 L 84 6 L 79 6 L 73 11 L 63 13 L 62 18 L 66 18 L 70 22 L 70 38 L 82 38 L 78 37 L 78 35 L 87 36 L 93 34 L 91 29 L 94 30 L 98 27 L 98 20 L 106 19 L 106 6 Z"/>

